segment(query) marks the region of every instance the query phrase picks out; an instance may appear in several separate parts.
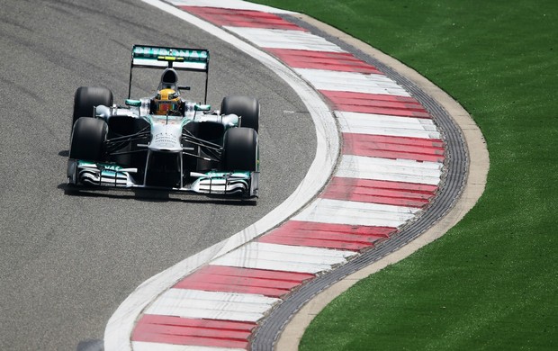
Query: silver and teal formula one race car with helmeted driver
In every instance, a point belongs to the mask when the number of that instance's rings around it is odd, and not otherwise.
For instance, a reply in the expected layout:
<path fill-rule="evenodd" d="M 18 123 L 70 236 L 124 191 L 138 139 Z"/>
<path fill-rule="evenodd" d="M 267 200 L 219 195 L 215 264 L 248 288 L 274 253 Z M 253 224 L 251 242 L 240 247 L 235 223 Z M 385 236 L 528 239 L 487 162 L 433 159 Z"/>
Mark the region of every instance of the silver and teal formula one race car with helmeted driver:
<path fill-rule="evenodd" d="M 157 94 L 130 99 L 134 67 L 164 69 Z M 203 104 L 181 97 L 189 87 L 178 85 L 176 70 L 205 72 Z M 259 103 L 227 96 L 211 111 L 208 72 L 206 49 L 134 45 L 124 105 L 112 103 L 109 89 L 79 87 L 68 183 L 257 197 Z"/>

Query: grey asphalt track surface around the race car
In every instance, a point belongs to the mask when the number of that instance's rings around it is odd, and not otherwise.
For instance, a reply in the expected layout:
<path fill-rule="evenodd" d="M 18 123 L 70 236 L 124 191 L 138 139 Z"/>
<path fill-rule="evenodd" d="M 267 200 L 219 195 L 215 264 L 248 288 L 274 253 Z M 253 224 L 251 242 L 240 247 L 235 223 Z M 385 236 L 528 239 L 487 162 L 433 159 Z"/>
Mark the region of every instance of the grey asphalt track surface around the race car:
<path fill-rule="evenodd" d="M 139 284 L 246 228 L 293 193 L 314 157 L 314 127 L 273 72 L 148 4 L 0 6 L 0 349 L 85 350 L 100 345 L 112 312 Z M 256 206 L 184 194 L 67 191 L 76 87 L 109 87 L 121 103 L 136 43 L 210 49 L 214 108 L 227 94 L 260 100 Z M 153 94 L 157 74 L 134 78 L 133 96 Z M 189 83 L 201 100 L 195 86 L 202 79 Z"/>

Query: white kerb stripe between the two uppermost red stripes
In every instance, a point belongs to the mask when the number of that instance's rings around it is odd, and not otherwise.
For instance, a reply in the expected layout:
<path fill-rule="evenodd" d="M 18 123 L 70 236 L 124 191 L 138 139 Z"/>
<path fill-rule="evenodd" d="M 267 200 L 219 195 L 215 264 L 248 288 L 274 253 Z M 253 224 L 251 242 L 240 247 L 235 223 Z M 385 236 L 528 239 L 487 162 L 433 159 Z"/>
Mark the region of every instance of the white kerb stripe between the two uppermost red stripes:
<path fill-rule="evenodd" d="M 301 49 L 328 52 L 346 52 L 334 43 L 329 42 L 308 31 L 274 30 L 265 28 L 230 27 L 223 28 L 238 34 L 260 48 Z"/>

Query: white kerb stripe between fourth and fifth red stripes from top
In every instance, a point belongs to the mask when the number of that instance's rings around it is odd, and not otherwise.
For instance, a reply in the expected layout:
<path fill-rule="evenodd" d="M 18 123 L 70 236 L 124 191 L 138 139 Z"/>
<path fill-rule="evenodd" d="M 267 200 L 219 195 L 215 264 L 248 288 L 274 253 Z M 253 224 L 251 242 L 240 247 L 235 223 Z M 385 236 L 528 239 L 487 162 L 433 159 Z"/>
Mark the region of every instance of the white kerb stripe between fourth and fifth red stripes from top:
<path fill-rule="evenodd" d="M 336 176 L 437 185 L 442 164 L 408 159 L 344 155 Z"/>

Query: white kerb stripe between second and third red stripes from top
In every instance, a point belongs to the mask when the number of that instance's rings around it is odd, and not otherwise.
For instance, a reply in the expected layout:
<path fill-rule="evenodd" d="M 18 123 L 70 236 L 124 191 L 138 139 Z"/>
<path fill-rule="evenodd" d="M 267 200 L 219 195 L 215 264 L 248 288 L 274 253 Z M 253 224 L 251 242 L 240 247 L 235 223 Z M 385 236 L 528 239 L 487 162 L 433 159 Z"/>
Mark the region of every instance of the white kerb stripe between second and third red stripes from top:
<path fill-rule="evenodd" d="M 383 75 L 312 68 L 293 69 L 318 90 L 410 96 L 400 85 Z"/>

